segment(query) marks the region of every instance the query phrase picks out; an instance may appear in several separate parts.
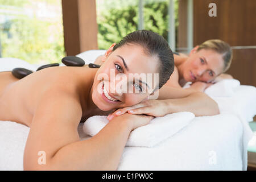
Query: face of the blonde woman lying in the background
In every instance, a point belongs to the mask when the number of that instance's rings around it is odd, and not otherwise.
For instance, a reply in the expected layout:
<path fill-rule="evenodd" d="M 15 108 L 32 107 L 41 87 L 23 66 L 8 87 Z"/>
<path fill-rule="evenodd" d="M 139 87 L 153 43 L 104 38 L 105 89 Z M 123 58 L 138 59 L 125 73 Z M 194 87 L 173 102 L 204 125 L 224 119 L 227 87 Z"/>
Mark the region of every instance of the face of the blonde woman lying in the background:
<path fill-rule="evenodd" d="M 183 78 L 186 81 L 210 82 L 224 69 L 222 55 L 211 49 L 194 49 L 184 62 Z"/>

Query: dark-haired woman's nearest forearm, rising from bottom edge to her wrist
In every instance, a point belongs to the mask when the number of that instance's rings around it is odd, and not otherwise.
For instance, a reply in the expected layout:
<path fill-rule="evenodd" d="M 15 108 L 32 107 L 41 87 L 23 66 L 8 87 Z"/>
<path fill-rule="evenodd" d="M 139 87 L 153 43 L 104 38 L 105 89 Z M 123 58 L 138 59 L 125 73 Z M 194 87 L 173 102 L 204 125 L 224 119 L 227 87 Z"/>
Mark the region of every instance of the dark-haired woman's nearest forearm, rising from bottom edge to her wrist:
<path fill-rule="evenodd" d="M 114 118 L 94 137 L 57 151 L 51 169 L 116 170 L 131 128 L 130 122 Z"/>

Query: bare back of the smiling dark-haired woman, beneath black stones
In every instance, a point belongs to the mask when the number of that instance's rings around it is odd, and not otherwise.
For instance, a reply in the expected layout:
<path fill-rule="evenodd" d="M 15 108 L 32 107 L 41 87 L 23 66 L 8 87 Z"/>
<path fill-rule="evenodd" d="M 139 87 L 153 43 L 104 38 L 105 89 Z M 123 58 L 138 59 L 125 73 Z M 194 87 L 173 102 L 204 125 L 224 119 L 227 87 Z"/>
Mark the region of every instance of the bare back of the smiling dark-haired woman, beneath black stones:
<path fill-rule="evenodd" d="M 42 94 L 71 92 L 72 97 L 79 98 L 77 88 L 81 84 L 81 75 L 89 81 L 96 71 L 85 67 L 51 67 L 20 80 L 11 72 L 0 72 L 0 121 L 15 121 L 30 126 Z M 87 117 L 93 114 L 96 113 Z"/>

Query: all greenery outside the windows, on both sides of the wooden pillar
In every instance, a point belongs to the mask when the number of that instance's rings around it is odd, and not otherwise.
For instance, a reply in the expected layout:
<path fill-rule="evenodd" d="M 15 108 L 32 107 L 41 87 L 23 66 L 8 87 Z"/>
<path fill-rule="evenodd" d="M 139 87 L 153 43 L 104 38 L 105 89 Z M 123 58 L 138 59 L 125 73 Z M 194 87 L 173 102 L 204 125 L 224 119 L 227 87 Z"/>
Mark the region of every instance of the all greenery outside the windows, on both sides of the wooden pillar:
<path fill-rule="evenodd" d="M 98 48 L 108 49 L 138 30 L 138 0 L 96 0 Z M 60 63 L 64 53 L 61 11 L 59 18 L 41 19 L 24 13 L 35 3 L 61 9 L 61 0 L 0 0 L 0 52 L 28 63 Z M 144 0 L 144 29 L 168 40 L 168 0 Z M 175 19 L 177 22 L 177 0 Z M 176 27 L 178 24 L 176 23 Z"/>

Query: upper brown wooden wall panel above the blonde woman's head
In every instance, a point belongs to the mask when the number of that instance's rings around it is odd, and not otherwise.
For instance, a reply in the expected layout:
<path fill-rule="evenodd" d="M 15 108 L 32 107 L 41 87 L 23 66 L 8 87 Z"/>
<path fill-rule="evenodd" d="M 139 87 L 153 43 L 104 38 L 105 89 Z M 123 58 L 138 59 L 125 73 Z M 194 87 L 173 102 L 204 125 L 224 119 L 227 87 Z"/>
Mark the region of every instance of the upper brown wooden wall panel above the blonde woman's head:
<path fill-rule="evenodd" d="M 210 17 L 209 3 L 216 3 L 217 16 Z M 230 46 L 256 46 L 255 0 L 193 0 L 194 46 L 208 39 L 221 39 Z"/>

